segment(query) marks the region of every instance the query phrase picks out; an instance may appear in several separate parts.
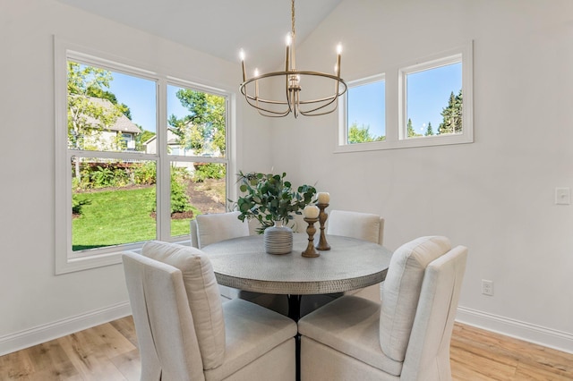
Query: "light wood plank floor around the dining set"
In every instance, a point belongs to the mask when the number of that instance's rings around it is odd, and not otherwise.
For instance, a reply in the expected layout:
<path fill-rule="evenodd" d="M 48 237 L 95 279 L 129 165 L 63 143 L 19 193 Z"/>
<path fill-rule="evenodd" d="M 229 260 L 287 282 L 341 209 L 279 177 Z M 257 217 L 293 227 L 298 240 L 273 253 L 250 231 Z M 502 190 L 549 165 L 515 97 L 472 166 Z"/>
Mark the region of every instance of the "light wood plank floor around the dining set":
<path fill-rule="evenodd" d="M 0 380 L 139 380 L 131 317 L 0 357 Z M 456 324 L 455 380 L 573 380 L 573 354 Z"/>

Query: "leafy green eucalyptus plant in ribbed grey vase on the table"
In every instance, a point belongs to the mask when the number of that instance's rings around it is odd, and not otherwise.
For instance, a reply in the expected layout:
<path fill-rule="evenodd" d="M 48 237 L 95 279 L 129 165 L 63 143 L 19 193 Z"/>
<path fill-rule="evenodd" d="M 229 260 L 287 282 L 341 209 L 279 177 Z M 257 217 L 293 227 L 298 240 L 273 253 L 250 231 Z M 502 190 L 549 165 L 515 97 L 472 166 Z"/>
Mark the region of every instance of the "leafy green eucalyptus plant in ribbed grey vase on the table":
<path fill-rule="evenodd" d="M 243 196 L 236 205 L 241 212 L 239 219 L 256 219 L 261 224 L 257 229 L 264 233 L 265 250 L 269 254 L 286 254 L 292 251 L 293 231 L 284 226 L 301 215 L 302 210 L 315 200 L 316 189 L 301 185 L 296 190 L 286 181 L 286 173 L 261 174 L 240 172 L 238 174 Z"/>

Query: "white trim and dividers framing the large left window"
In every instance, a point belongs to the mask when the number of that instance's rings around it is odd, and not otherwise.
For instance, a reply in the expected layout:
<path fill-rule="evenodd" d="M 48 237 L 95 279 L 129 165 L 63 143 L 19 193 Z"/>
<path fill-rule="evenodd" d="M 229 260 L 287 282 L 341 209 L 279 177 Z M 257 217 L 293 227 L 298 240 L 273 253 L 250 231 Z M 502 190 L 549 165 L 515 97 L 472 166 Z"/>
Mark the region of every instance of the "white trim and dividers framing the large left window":
<path fill-rule="evenodd" d="M 93 64 L 114 72 L 124 72 L 157 82 L 157 154 L 133 154 L 133 153 L 107 153 L 100 151 L 70 151 L 67 149 L 67 131 L 62 126 L 67 123 L 67 61 L 76 59 L 81 63 Z M 84 250 L 81 253 L 72 250 L 72 174 L 69 170 L 68 157 L 78 154 L 82 157 L 121 157 L 129 159 L 156 161 L 158 165 L 164 165 L 167 170 L 160 171 L 161 182 L 158 181 L 156 193 L 158 198 L 158 237 L 163 241 L 185 242 L 184 237 L 170 237 L 170 220 L 163 216 L 162 210 L 170 208 L 168 197 L 162 197 L 169 193 L 168 165 L 171 161 L 201 161 L 224 163 L 227 165 L 227 199 L 235 197 L 236 190 L 231 187 L 229 174 L 236 172 L 235 157 L 235 93 L 231 89 L 218 89 L 209 85 L 202 85 L 191 80 L 182 80 L 168 76 L 160 72 L 152 72 L 141 68 L 141 64 L 126 63 L 129 60 L 107 55 L 99 51 L 93 51 L 79 44 L 64 41 L 54 36 L 54 67 L 55 67 L 55 274 L 62 275 L 75 271 L 86 270 L 95 267 L 104 267 L 121 263 L 121 253 L 125 250 L 140 250 L 142 243 L 128 243 L 97 250 Z M 167 140 L 167 84 L 210 92 L 226 98 L 226 141 L 227 150 L 225 158 L 220 157 L 175 157 L 167 155 L 167 147 L 161 144 Z M 159 160 L 160 157 L 165 157 Z M 159 186 L 159 184 L 161 184 Z M 165 220 L 165 221 L 162 221 Z"/>

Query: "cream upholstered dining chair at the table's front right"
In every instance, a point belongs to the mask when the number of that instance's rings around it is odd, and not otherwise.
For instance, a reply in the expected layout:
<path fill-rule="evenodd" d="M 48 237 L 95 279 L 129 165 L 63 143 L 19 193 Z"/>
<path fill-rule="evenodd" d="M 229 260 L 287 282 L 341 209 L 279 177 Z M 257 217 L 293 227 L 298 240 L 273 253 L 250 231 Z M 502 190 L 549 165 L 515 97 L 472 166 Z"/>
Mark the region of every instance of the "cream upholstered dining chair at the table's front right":
<path fill-rule="evenodd" d="M 423 237 L 390 259 L 375 303 L 345 295 L 300 319 L 302 380 L 451 380 L 467 249 Z"/>

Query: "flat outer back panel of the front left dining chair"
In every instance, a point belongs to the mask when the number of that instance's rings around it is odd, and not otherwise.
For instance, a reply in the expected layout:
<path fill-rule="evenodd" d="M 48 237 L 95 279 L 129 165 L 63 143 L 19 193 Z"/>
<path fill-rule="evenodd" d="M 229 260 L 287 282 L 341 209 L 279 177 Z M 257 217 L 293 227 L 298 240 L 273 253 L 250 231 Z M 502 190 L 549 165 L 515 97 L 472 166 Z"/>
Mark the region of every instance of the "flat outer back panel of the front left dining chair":
<path fill-rule="evenodd" d="M 141 381 L 204 380 L 181 271 L 135 253 L 124 253 L 122 258 L 140 350 Z"/>

